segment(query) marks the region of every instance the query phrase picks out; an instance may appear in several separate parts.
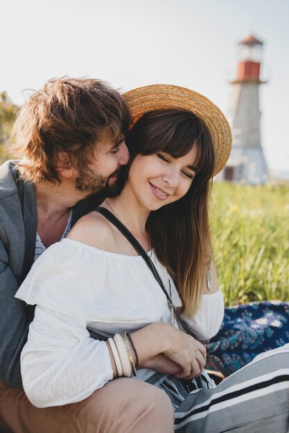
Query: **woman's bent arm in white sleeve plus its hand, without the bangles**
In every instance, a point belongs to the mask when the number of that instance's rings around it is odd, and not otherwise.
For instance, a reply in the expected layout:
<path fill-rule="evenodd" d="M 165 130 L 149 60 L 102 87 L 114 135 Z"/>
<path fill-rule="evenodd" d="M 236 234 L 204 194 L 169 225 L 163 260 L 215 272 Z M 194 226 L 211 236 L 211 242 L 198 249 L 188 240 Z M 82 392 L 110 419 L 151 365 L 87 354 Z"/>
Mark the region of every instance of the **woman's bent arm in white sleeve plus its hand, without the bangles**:
<path fill-rule="evenodd" d="M 204 367 L 204 346 L 173 326 L 151 324 L 131 337 L 141 367 L 160 353 L 180 366 L 178 377 L 198 376 Z M 21 355 L 24 390 L 36 407 L 76 403 L 116 376 L 112 359 L 106 342 L 89 338 L 84 321 L 37 306 Z"/>

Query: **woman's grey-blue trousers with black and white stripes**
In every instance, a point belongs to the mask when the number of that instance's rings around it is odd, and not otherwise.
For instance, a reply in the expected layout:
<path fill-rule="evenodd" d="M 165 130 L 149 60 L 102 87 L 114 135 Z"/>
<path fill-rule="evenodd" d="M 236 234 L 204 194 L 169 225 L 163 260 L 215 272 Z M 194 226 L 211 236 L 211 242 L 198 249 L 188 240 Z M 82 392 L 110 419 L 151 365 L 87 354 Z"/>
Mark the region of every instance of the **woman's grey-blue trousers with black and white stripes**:
<path fill-rule="evenodd" d="M 289 432 L 289 344 L 262 353 L 217 387 L 201 381 L 186 393 L 175 378 L 155 380 L 177 407 L 176 432 Z"/>

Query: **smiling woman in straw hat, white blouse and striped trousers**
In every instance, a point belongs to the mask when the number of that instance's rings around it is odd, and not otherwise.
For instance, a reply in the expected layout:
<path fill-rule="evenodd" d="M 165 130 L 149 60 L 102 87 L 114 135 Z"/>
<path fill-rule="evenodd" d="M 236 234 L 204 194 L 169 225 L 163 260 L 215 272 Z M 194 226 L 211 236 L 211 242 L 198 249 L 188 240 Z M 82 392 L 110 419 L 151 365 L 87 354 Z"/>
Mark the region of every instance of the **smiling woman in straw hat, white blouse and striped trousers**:
<path fill-rule="evenodd" d="M 211 338 L 223 301 L 207 207 L 210 179 L 229 156 L 229 125 L 187 89 L 147 86 L 125 96 L 132 158 L 123 192 L 102 207 L 148 252 L 193 333 Z M 83 217 L 49 248 L 17 297 L 37 304 L 21 357 L 24 389 L 37 406 L 82 400 L 138 367 L 139 380 L 170 397 L 179 432 L 288 431 L 289 349 L 261 356 L 216 387 L 203 371 L 204 346 L 178 329 L 143 257 L 103 214 Z M 104 341 L 89 338 L 87 328 Z"/>

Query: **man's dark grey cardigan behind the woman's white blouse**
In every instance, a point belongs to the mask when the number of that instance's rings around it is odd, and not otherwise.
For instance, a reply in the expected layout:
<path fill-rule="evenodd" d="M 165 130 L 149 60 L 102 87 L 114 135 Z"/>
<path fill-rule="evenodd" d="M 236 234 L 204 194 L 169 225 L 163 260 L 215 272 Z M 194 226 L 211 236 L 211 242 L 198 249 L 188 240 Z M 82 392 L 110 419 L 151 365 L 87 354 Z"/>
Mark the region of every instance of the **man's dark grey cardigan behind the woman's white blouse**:
<path fill-rule="evenodd" d="M 72 225 L 96 205 L 94 198 L 73 208 Z M 37 232 L 35 188 L 17 179 L 12 161 L 0 167 L 0 380 L 21 387 L 20 354 L 34 308 L 14 295 L 33 264 Z"/>

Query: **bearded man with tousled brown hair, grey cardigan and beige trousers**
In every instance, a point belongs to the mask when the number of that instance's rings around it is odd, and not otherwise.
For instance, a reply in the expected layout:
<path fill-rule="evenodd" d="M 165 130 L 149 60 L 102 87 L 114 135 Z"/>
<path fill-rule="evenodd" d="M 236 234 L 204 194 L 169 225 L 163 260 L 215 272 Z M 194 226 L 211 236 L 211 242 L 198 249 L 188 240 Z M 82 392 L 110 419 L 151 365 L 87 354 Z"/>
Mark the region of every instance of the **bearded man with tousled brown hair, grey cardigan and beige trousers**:
<path fill-rule="evenodd" d="M 96 205 L 91 194 L 121 189 L 130 116 L 121 95 L 98 80 L 50 80 L 14 126 L 18 162 L 0 167 L 0 431 L 170 432 L 166 395 L 117 379 L 80 403 L 37 409 L 21 389 L 20 354 L 33 309 L 14 295 L 33 261 Z M 64 270 L 69 272 L 69 270 Z"/>

